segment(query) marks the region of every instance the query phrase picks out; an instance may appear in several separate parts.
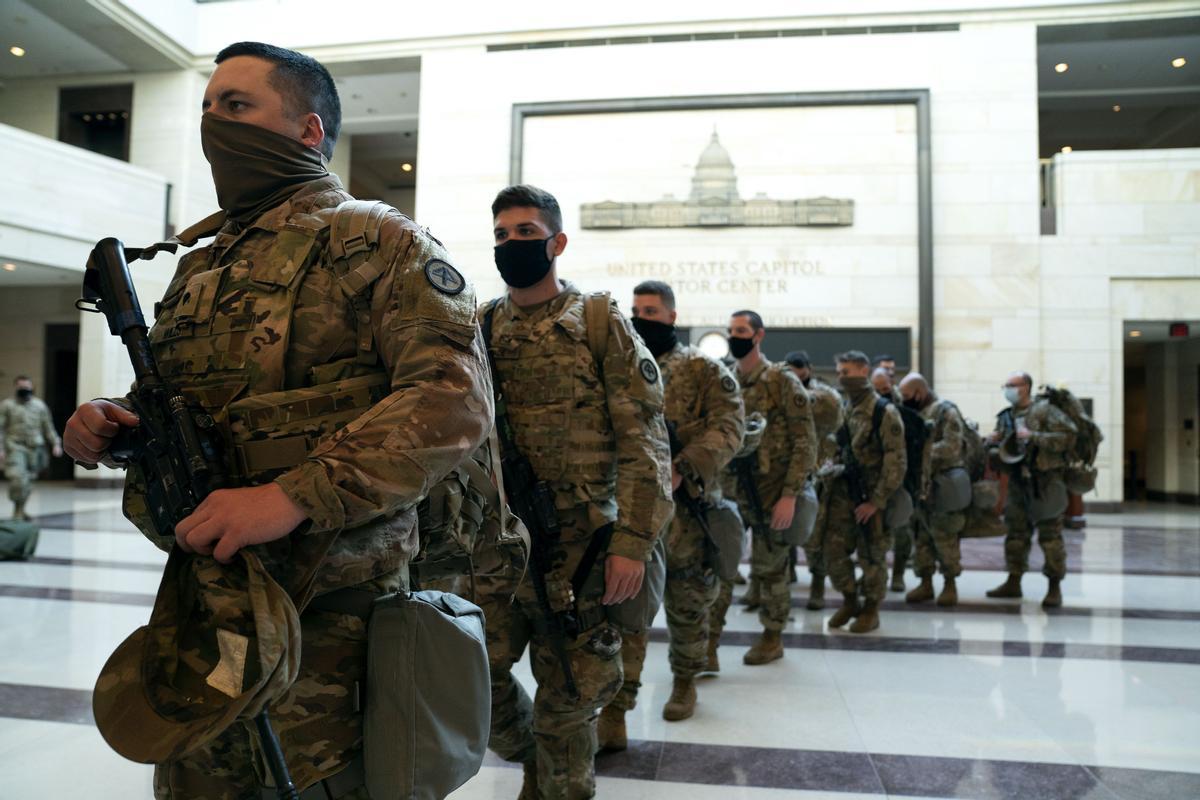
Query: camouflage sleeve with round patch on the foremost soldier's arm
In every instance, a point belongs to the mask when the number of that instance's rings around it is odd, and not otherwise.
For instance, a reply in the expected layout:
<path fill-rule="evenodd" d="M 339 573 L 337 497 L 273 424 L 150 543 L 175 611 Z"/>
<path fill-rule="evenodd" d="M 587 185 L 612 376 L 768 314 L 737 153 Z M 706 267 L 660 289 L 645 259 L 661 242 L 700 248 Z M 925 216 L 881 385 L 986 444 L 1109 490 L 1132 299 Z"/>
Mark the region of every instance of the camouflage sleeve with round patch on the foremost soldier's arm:
<path fill-rule="evenodd" d="M 395 255 L 374 284 L 371 326 L 392 391 L 276 480 L 317 529 L 416 504 L 492 426 L 473 287 L 425 234 L 397 221 L 380 239 Z"/>

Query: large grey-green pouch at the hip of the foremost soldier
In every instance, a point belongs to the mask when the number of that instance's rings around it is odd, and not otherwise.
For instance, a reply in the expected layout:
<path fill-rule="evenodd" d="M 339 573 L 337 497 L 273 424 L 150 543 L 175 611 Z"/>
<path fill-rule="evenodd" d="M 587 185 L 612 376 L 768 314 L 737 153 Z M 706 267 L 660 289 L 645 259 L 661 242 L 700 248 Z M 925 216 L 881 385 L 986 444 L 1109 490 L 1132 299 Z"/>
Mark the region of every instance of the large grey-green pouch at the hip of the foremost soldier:
<path fill-rule="evenodd" d="M 374 601 L 362 722 L 374 800 L 442 800 L 484 763 L 492 697 L 484 612 L 443 591 Z"/>

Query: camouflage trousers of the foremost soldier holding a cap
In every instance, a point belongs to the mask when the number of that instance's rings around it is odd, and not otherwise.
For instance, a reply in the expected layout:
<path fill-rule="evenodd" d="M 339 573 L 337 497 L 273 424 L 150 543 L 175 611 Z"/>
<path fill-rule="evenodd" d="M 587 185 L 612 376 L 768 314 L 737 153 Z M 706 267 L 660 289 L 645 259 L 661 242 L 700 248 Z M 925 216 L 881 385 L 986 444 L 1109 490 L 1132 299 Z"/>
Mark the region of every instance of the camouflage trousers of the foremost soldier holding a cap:
<path fill-rule="evenodd" d="M 374 594 L 404 587 L 407 569 L 359 584 Z M 362 753 L 362 712 L 356 688 L 366 691 L 367 625 L 352 614 L 305 610 L 300 615 L 300 675 L 268 709 L 288 771 L 304 790 L 340 772 Z M 156 800 L 262 800 L 270 772 L 253 722 L 238 722 L 184 758 L 157 764 Z M 370 800 L 366 787 L 343 799 Z"/>

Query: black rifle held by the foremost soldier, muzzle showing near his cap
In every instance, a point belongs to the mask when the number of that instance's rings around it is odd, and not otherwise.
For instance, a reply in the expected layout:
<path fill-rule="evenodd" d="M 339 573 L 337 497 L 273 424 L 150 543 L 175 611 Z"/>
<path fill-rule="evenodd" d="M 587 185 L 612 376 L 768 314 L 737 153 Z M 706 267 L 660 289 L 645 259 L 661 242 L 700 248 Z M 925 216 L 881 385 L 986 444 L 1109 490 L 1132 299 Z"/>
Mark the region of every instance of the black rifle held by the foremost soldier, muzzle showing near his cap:
<path fill-rule="evenodd" d="M 196 511 L 211 492 L 226 486 L 228 479 L 216 422 L 203 409 L 190 404 L 184 393 L 158 373 L 126 260 L 140 254 L 140 249 L 126 249 L 116 239 L 98 241 L 88 257 L 83 299 L 76 302 L 76 308 L 104 314 L 109 332 L 119 336 L 128 350 L 134 377 L 130 405 L 139 422 L 136 428 L 121 427 L 108 456 L 121 467 L 140 470 L 155 531 L 174 536 L 175 525 Z M 275 778 L 276 794 L 282 800 L 299 800 L 266 709 L 254 717 L 254 724 Z"/>

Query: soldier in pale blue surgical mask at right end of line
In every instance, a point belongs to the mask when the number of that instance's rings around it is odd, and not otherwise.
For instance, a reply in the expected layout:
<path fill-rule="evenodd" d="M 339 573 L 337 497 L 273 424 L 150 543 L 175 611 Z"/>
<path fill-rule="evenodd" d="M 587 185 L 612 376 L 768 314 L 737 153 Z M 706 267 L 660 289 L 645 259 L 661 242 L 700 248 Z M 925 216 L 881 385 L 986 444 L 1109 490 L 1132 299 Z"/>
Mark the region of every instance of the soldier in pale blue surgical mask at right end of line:
<path fill-rule="evenodd" d="M 1067 548 L 1062 541 L 1063 509 L 1037 503 L 1061 494 L 1066 498 L 1063 469 L 1066 453 L 1075 441 L 1075 423 L 1050 401 L 1033 399 L 1033 378 L 1014 372 L 1004 381 L 1004 399 L 1009 408 L 996 415 L 996 429 L 988 437 L 990 445 L 1006 438 L 1015 440 L 1020 459 L 1004 463 L 1008 474 L 1008 501 L 1004 504 L 1004 561 L 1008 578 L 988 591 L 989 597 L 1020 597 L 1021 576 L 1030 569 L 1030 548 L 1033 528 L 1038 529 L 1038 546 L 1045 565 L 1042 572 L 1049 579 L 1044 608 L 1062 606 L 1062 579 L 1067 576 Z"/>

